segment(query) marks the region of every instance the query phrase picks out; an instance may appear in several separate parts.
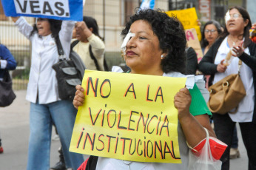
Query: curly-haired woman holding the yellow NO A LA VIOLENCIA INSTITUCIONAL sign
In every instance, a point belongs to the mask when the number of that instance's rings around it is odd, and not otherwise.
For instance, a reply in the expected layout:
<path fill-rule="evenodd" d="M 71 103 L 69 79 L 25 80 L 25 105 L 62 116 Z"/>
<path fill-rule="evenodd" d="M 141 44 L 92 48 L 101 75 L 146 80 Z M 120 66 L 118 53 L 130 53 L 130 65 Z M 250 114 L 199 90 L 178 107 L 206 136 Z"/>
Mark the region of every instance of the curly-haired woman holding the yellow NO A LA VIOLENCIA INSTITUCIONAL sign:
<path fill-rule="evenodd" d="M 125 38 L 121 48 L 125 53 L 126 64 L 131 68 L 130 74 L 185 76 L 182 73 L 185 72 L 186 36 L 177 18 L 170 18 L 160 10 L 140 10 L 130 18 L 122 35 Z M 76 86 L 76 89 L 73 105 L 78 109 L 78 106 L 83 105 L 85 95 L 81 86 Z M 211 137 L 215 137 L 209 124 L 212 114 L 196 85 L 192 89 L 180 89 L 174 97 L 174 105 L 178 109 L 178 143 L 182 163 L 146 163 L 90 157 L 88 162 L 81 165 L 81 169 L 84 170 L 86 164 L 87 169 L 188 169 L 189 146 L 200 152 L 201 145 L 198 143 L 206 137 L 204 128 Z"/>

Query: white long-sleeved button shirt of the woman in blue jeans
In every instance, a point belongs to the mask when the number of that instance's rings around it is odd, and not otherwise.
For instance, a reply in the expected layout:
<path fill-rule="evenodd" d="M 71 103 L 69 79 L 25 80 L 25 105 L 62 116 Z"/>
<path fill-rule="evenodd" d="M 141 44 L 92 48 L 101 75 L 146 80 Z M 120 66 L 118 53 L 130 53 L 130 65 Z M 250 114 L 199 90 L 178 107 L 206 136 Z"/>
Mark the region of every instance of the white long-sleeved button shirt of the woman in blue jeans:
<path fill-rule="evenodd" d="M 52 68 L 53 64 L 58 62 L 58 50 L 55 45 L 55 39 L 52 35 L 40 38 L 37 33 L 30 36 L 33 27 L 23 17 L 18 18 L 15 24 L 18 30 L 32 44 L 30 78 L 27 84 L 26 95 L 27 101 L 36 103 L 37 93 L 39 104 L 60 101 L 55 70 Z M 63 21 L 61 31 L 58 33 L 66 58 L 69 57 L 70 53 L 73 27 L 73 21 Z"/>

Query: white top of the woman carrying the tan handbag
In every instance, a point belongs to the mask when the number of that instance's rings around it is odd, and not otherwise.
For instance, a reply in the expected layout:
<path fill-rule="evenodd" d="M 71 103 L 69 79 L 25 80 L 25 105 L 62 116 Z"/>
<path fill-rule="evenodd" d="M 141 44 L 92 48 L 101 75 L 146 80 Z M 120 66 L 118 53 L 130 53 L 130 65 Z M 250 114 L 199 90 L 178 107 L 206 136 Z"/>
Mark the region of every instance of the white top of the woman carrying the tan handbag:
<path fill-rule="evenodd" d="M 230 48 L 227 45 L 227 38 L 225 38 L 218 49 L 215 58 L 215 64 L 220 64 L 220 61 L 226 58 L 226 55 L 229 52 L 229 50 Z M 248 48 L 246 48 L 244 52 L 250 55 Z M 238 61 L 238 57 L 233 57 L 231 64 L 227 67 L 225 72 L 215 73 L 213 84 L 217 83 L 218 81 L 220 81 L 221 79 L 225 78 L 230 74 L 237 74 Z M 229 117 L 234 122 L 252 122 L 252 115 L 255 105 L 255 89 L 253 85 L 252 69 L 244 63 L 242 63 L 242 66 L 240 68 L 240 78 L 243 81 L 244 88 L 246 89 L 246 96 L 243 98 L 242 101 L 240 101 L 238 105 L 238 112 L 236 112 L 235 114 L 229 113 Z"/>

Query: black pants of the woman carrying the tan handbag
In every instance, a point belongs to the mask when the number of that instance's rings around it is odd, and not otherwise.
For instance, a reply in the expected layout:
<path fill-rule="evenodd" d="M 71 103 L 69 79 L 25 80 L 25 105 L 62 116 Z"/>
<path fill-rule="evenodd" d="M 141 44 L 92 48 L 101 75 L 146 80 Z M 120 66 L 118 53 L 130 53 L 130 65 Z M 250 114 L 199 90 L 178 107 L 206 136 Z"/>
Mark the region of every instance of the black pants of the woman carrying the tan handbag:
<path fill-rule="evenodd" d="M 232 136 L 235 129 L 235 122 L 229 118 L 229 115 L 213 114 L 215 124 L 215 134 L 218 139 L 226 143 L 228 147 L 220 160 L 222 161 L 222 170 L 229 170 L 229 152 L 232 143 Z M 249 158 L 249 170 L 256 170 L 256 124 L 239 123 L 244 146 L 246 146 L 247 156 Z"/>

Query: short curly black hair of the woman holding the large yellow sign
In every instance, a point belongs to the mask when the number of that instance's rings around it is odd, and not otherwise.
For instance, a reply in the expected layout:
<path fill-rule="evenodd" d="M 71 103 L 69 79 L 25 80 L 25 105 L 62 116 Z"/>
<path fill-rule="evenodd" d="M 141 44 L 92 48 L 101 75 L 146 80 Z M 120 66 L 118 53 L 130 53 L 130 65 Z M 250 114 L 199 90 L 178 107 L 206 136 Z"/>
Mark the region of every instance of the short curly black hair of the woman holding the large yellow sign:
<path fill-rule="evenodd" d="M 163 71 L 184 74 L 186 68 L 186 35 L 181 22 L 176 17 L 169 17 L 160 9 L 137 10 L 138 8 L 135 10 L 135 15 L 130 17 L 121 35 L 124 37 L 127 35 L 133 22 L 137 20 L 147 21 L 159 39 L 161 50 L 167 52 L 161 61 Z"/>

